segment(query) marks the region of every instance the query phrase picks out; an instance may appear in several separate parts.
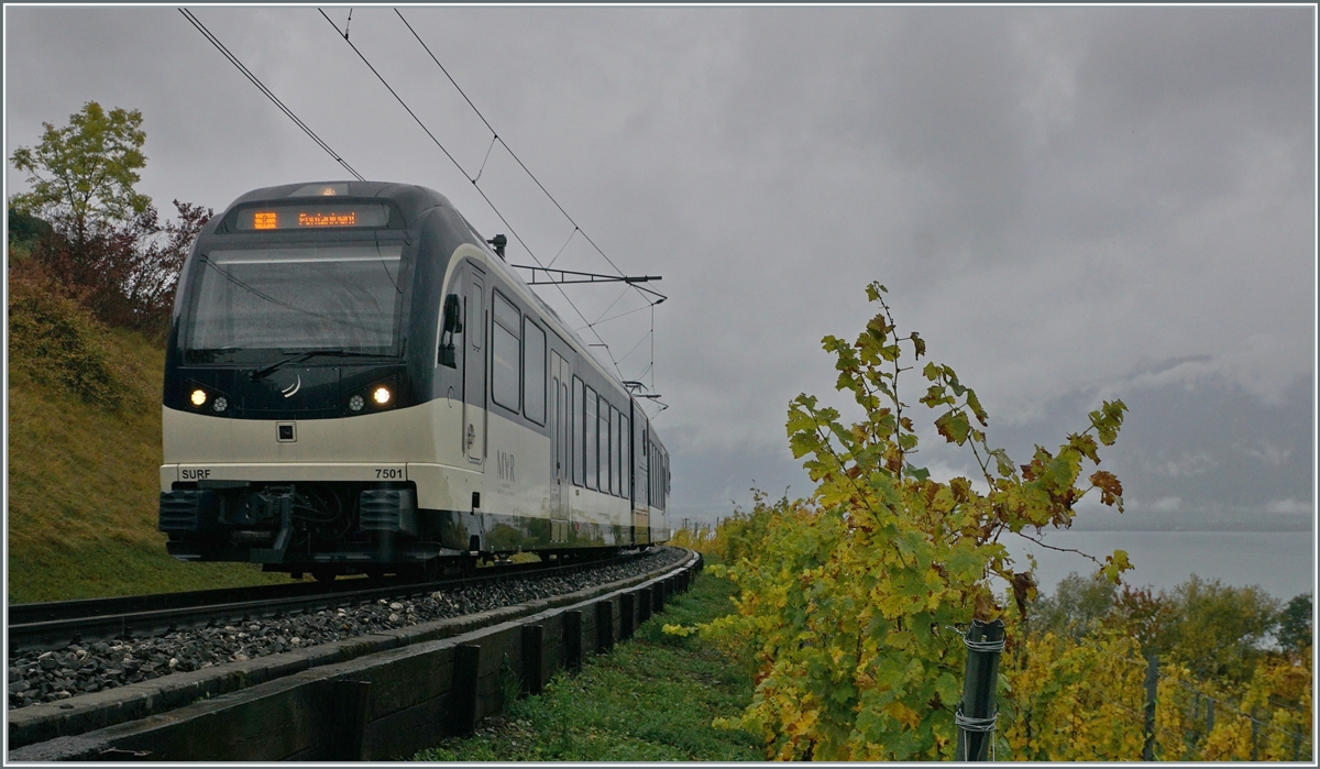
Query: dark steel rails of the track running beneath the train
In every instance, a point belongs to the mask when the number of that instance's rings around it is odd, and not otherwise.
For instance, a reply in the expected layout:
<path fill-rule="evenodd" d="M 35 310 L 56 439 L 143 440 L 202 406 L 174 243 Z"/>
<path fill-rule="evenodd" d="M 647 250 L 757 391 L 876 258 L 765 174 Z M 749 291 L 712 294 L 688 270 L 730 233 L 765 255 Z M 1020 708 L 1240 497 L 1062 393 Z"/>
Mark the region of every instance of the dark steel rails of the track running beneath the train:
<path fill-rule="evenodd" d="M 185 593 L 123 596 L 9 606 L 9 654 L 63 649 L 71 643 L 149 637 L 173 630 L 279 617 L 290 612 L 329 609 L 346 604 L 397 600 L 440 589 L 486 585 L 511 579 L 565 575 L 620 564 L 631 552 L 572 563 L 523 563 L 478 569 L 475 576 L 434 581 L 407 579 L 347 579 L 292 583 Z"/>

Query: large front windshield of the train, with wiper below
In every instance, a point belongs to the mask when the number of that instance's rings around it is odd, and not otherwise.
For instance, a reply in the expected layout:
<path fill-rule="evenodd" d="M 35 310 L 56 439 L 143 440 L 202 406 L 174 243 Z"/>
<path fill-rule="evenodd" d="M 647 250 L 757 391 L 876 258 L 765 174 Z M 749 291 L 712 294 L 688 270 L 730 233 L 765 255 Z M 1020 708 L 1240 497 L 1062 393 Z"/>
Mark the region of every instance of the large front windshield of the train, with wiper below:
<path fill-rule="evenodd" d="M 194 271 L 186 357 L 348 350 L 396 354 L 401 246 L 215 250 Z"/>

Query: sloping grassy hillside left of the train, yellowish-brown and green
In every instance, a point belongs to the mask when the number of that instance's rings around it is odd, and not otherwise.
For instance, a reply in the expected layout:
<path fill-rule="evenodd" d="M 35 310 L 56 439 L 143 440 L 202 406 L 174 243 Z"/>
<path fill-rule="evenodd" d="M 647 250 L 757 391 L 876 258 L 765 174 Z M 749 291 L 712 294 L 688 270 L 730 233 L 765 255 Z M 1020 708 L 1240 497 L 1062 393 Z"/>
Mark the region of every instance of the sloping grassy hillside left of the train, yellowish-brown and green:
<path fill-rule="evenodd" d="M 288 581 L 165 552 L 160 344 L 48 288 L 9 284 L 9 603 Z"/>

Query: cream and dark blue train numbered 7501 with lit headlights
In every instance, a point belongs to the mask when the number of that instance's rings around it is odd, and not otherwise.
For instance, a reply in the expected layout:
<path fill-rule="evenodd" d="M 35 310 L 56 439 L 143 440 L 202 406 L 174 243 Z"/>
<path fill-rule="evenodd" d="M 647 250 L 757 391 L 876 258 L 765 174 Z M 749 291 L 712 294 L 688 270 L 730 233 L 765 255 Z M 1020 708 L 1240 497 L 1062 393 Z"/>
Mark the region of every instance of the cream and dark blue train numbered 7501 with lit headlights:
<path fill-rule="evenodd" d="M 393 182 L 211 217 L 165 350 L 169 554 L 329 580 L 664 542 L 664 443 L 503 242 Z"/>

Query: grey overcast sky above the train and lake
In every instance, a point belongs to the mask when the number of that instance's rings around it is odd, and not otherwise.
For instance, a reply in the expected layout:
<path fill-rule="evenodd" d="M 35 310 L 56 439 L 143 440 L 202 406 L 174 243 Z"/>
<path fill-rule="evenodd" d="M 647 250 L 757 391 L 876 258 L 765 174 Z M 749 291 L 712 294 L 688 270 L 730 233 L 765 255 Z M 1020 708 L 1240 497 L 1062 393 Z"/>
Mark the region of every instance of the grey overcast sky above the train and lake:
<path fill-rule="evenodd" d="M 508 230 L 315 8 L 193 11 L 359 173 Z M 653 371 L 635 292 L 568 293 L 668 404 L 676 518 L 809 492 L 785 407 L 841 403 L 820 340 L 861 330 L 870 280 L 1019 462 L 1122 398 L 1129 525 L 1312 518 L 1313 9 L 403 11 L 582 231 L 664 277 Z M 348 34 L 536 258 L 612 271 L 393 11 Z M 141 110 L 162 214 L 346 177 L 173 7 L 7 7 L 5 66 L 7 156 L 87 100 Z M 919 460 L 970 472 L 925 435 Z"/>

